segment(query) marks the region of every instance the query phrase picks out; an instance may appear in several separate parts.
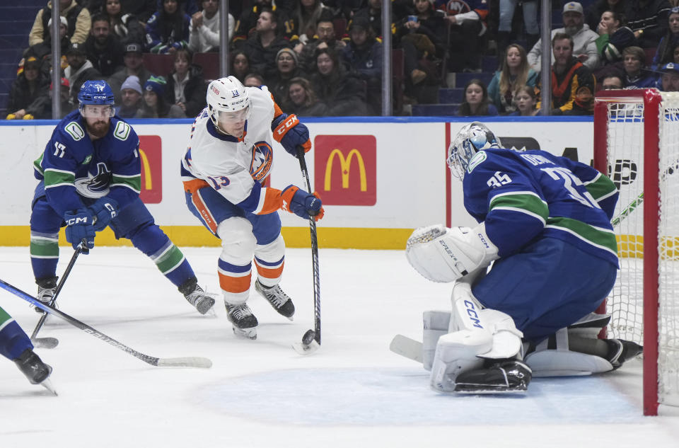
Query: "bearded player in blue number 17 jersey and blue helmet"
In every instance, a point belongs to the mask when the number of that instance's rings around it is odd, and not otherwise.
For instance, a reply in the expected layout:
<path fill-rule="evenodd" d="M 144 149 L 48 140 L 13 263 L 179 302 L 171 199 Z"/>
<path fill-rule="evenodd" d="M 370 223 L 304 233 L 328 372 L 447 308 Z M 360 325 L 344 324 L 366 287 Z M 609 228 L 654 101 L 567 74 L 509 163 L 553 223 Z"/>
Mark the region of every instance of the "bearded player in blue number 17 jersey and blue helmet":
<path fill-rule="evenodd" d="M 113 112 L 113 92 L 105 81 L 86 81 L 79 110 L 59 122 L 44 153 L 33 163 L 35 188 L 30 216 L 30 260 L 37 299 L 49 302 L 57 287 L 59 229 L 76 248 L 107 226 L 146 254 L 201 314 L 214 299 L 197 278 L 141 199 L 139 137 Z"/>

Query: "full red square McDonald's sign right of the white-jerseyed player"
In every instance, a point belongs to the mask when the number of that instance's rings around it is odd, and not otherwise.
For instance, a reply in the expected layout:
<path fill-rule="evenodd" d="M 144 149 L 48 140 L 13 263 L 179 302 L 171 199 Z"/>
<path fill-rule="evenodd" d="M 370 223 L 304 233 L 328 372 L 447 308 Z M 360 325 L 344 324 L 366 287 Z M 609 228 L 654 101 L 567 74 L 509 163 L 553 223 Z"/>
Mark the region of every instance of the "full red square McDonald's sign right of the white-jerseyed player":
<path fill-rule="evenodd" d="M 375 205 L 377 140 L 373 135 L 318 135 L 315 189 L 325 205 Z"/>

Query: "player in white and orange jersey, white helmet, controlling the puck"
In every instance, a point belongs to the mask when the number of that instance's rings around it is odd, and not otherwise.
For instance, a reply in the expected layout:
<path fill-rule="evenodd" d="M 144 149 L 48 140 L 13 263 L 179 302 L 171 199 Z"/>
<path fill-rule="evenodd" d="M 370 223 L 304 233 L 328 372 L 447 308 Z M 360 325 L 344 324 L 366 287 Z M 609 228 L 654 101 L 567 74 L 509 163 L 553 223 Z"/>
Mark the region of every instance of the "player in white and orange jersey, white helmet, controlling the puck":
<path fill-rule="evenodd" d="M 311 149 L 307 127 L 283 113 L 266 86 L 244 87 L 228 76 L 209 84 L 207 108 L 196 117 L 182 157 L 187 207 L 221 239 L 218 274 L 228 319 L 236 335 L 250 339 L 257 337 L 257 318 L 246 303 L 253 260 L 257 292 L 282 316 L 292 319 L 295 312 L 279 286 L 285 243 L 278 209 L 317 221 L 324 213 L 315 194 L 294 185 L 265 187 L 273 139 L 294 156 L 299 146 Z"/>

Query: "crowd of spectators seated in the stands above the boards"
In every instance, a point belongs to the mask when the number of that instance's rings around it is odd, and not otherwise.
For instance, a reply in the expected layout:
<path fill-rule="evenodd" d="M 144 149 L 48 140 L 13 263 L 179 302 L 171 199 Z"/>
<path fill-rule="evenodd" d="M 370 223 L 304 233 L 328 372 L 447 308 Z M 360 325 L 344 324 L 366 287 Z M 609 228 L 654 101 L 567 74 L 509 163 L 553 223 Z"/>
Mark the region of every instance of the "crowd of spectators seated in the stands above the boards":
<path fill-rule="evenodd" d="M 380 115 L 382 4 L 387 0 L 230 1 L 229 74 L 266 85 L 303 116 Z M 552 1 L 551 98 L 542 104 L 539 0 L 390 0 L 392 47 L 402 54 L 406 103 L 436 103 L 450 72 L 471 79 L 458 115 L 587 115 L 600 88 L 679 90 L 679 0 Z M 121 117 L 195 117 L 210 79 L 195 54 L 219 52 L 219 0 L 52 0 L 35 16 L 8 119 L 52 117 L 52 7 L 59 7 L 62 115 L 83 82 L 108 81 Z M 521 11 L 518 11 L 518 7 Z M 171 68 L 145 67 L 166 54 Z M 218 59 L 211 59 L 218 60 Z M 474 76 L 474 75 L 472 75 Z M 481 77 L 480 77 L 481 78 Z M 395 113 L 402 113 L 401 110 Z"/>

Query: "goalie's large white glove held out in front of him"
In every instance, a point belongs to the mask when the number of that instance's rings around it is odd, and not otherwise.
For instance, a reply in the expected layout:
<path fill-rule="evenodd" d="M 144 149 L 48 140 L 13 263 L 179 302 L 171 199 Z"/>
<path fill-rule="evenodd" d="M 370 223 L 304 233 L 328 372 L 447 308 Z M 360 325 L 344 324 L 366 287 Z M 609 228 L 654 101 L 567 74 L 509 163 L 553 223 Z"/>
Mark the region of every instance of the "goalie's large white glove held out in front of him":
<path fill-rule="evenodd" d="M 441 224 L 412 232 L 405 256 L 422 277 L 432 282 L 453 282 L 497 260 L 497 246 L 488 238 L 484 223 L 446 228 Z"/>

